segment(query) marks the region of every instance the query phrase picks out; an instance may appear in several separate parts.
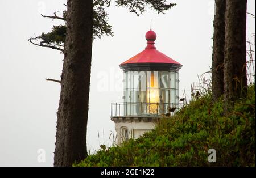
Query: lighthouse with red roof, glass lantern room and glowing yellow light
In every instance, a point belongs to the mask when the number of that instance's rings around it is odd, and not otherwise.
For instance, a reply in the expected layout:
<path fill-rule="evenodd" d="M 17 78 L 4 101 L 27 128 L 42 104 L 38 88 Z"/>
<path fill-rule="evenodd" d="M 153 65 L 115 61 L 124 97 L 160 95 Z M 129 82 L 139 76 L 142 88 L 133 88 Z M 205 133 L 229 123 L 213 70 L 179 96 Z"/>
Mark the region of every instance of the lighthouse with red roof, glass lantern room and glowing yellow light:
<path fill-rule="evenodd" d="M 123 70 L 123 101 L 111 104 L 110 116 L 118 144 L 154 129 L 161 118 L 173 115 L 170 110 L 179 108 L 182 65 L 156 49 L 154 31 L 145 37 L 146 48 L 119 65 Z"/>

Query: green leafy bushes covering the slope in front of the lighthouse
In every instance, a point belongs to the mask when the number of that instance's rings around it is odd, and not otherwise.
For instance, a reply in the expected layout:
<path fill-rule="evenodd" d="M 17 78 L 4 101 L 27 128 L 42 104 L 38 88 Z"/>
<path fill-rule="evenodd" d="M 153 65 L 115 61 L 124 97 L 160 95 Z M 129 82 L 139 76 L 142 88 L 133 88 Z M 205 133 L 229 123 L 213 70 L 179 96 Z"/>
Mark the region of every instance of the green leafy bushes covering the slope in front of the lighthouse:
<path fill-rule="evenodd" d="M 155 130 L 121 146 L 98 150 L 73 166 L 255 166 L 255 84 L 224 115 L 210 94 L 191 101 Z M 208 162 L 208 150 L 216 162 Z"/>

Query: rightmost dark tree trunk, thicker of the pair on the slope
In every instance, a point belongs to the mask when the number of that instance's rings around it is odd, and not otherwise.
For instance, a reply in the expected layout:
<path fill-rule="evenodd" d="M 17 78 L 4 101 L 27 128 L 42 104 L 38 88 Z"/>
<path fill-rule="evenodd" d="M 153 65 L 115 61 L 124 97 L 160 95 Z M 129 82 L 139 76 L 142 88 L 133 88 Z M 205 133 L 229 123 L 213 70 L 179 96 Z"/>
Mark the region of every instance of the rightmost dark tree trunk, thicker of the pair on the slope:
<path fill-rule="evenodd" d="M 246 78 L 246 0 L 226 0 L 224 99 L 226 109 L 245 95 Z"/>

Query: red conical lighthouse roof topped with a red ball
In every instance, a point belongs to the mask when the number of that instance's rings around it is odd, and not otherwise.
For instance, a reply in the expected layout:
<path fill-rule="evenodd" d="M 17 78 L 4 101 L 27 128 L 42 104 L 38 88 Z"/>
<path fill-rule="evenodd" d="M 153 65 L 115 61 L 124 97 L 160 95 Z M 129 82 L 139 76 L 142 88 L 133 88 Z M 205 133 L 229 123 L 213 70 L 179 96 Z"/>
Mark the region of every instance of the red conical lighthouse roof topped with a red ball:
<path fill-rule="evenodd" d="M 154 44 L 156 39 L 156 33 L 154 31 L 148 31 L 145 35 L 147 40 L 147 47 L 141 53 L 131 57 L 129 60 L 121 63 L 120 66 L 129 63 L 170 63 L 181 65 L 179 62 L 166 56 L 165 54 L 156 50 Z"/>

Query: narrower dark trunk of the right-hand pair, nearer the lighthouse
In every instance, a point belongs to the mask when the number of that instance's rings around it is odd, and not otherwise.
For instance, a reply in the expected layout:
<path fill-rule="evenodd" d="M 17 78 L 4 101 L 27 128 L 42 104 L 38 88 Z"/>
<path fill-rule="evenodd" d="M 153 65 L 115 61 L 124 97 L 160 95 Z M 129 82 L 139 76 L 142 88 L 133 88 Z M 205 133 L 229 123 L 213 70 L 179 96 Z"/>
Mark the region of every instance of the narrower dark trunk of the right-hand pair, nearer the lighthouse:
<path fill-rule="evenodd" d="M 224 93 L 225 10 L 226 0 L 215 0 L 212 52 L 212 96 L 214 101 L 217 101 Z"/>

